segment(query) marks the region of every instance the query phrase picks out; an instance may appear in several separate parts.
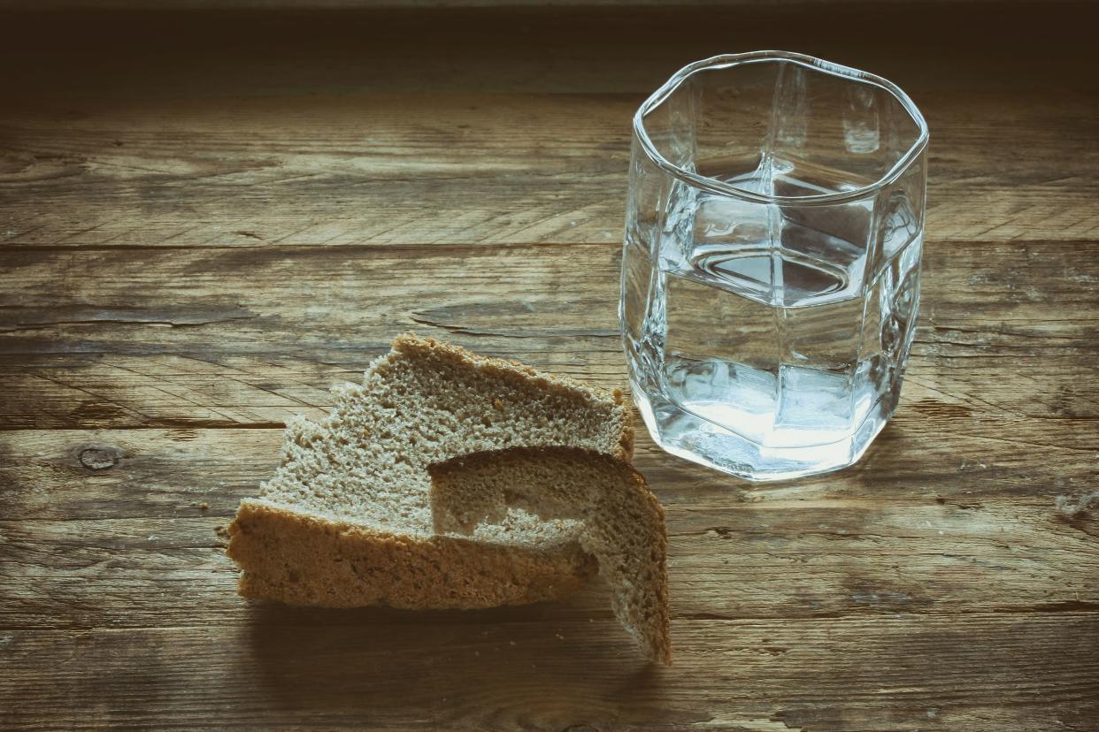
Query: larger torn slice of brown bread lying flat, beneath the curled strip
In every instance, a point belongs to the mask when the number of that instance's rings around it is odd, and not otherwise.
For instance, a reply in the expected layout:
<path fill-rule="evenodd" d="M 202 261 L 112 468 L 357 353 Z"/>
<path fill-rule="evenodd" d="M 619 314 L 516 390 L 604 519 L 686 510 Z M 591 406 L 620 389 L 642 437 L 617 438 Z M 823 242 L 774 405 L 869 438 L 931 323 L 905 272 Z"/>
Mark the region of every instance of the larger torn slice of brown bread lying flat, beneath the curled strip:
<path fill-rule="evenodd" d="M 229 555 L 241 595 L 291 605 L 479 608 L 560 597 L 595 561 L 576 522 L 509 511 L 436 536 L 428 465 L 480 450 L 565 443 L 629 459 L 620 391 L 406 335 L 320 424 L 291 420 L 282 464 L 241 503 Z"/>

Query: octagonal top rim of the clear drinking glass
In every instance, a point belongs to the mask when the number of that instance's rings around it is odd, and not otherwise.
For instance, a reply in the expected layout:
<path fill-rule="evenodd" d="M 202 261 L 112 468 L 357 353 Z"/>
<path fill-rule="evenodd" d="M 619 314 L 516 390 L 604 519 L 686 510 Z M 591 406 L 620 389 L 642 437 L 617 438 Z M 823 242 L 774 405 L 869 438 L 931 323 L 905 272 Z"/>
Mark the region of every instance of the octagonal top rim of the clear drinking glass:
<path fill-rule="evenodd" d="M 811 68 L 832 76 L 853 79 L 885 89 L 893 95 L 909 116 L 912 117 L 912 121 L 915 122 L 920 132 L 919 136 L 915 142 L 909 146 L 908 151 L 906 151 L 904 155 L 901 156 L 901 158 L 884 176 L 873 183 L 862 185 L 851 191 L 818 193 L 813 195 L 767 195 L 764 193 L 747 191 L 742 188 L 737 188 L 736 185 L 732 185 L 731 183 L 686 170 L 685 168 L 681 168 L 668 160 L 656 149 L 653 140 L 648 137 L 648 132 L 645 129 L 645 115 L 652 112 L 658 104 L 664 102 L 685 80 L 696 72 L 706 69 L 731 68 L 742 64 L 775 60 L 796 64 L 798 66 Z M 912 161 L 914 161 L 928 146 L 929 138 L 928 123 L 923 119 L 923 114 L 920 113 L 920 110 L 915 106 L 915 103 L 912 102 L 911 98 L 909 98 L 909 95 L 892 81 L 889 81 L 888 79 L 876 74 L 870 74 L 869 71 L 861 71 L 850 66 L 833 64 L 832 61 L 825 61 L 821 58 L 817 58 L 815 56 L 809 56 L 808 54 L 799 54 L 790 50 L 752 50 L 743 54 L 720 54 L 718 56 L 711 56 L 710 58 L 695 61 L 693 64 L 688 64 L 673 74 L 671 78 L 664 82 L 664 86 L 650 94 L 648 99 L 641 103 L 641 106 L 637 108 L 637 112 L 633 115 L 633 134 L 637 142 L 641 143 L 641 147 L 650 160 L 656 164 L 656 166 L 664 171 L 678 178 L 685 183 L 692 185 L 693 188 L 700 188 L 710 191 L 711 193 L 751 201 L 753 203 L 786 203 L 800 205 L 852 201 L 855 199 L 866 198 L 868 194 L 881 190 L 900 178 Z"/>

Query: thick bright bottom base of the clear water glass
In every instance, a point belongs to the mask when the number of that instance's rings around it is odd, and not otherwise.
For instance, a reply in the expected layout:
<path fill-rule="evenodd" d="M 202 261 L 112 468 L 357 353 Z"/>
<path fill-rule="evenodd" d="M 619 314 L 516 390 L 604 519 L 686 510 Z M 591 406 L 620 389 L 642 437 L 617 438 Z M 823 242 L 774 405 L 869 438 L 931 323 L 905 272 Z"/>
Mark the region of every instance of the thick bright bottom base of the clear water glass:
<path fill-rule="evenodd" d="M 895 404 L 879 402 L 845 439 L 806 448 L 768 448 L 707 421 L 631 382 L 634 403 L 653 440 L 674 455 L 747 481 L 788 481 L 854 464 L 886 426 Z"/>

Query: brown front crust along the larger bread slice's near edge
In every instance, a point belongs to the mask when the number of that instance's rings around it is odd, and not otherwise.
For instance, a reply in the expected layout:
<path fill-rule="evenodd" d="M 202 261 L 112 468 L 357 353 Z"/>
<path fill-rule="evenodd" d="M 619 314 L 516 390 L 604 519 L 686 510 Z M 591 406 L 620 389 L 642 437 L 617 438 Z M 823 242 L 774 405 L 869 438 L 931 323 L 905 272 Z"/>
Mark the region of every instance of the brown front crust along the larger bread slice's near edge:
<path fill-rule="evenodd" d="M 245 500 L 227 553 L 244 597 L 288 605 L 474 609 L 557 599 L 597 571 L 575 542 L 523 548 L 409 536 Z"/>

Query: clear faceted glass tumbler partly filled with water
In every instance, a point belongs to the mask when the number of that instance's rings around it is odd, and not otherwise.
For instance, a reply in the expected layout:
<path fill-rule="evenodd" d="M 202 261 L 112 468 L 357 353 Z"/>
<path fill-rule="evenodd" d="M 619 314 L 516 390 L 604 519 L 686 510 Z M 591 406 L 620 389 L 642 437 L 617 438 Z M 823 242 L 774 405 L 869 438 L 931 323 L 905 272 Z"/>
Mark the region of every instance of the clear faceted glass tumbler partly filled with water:
<path fill-rule="evenodd" d="M 785 52 L 641 105 L 619 313 L 660 447 L 755 481 L 858 460 L 915 333 L 926 143 L 893 83 Z"/>

